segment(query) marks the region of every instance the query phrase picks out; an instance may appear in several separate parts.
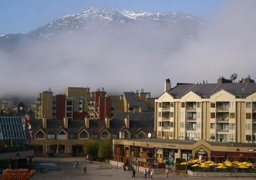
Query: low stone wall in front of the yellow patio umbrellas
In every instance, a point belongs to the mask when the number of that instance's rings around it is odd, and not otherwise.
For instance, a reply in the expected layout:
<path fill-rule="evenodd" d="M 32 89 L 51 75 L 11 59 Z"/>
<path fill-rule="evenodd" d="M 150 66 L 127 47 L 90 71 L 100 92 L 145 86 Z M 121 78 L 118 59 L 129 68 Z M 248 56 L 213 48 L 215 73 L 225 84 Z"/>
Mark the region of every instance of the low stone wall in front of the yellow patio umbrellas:
<path fill-rule="evenodd" d="M 190 176 L 197 177 L 256 177 L 256 173 L 241 173 L 241 172 L 193 172 L 188 170 Z"/>

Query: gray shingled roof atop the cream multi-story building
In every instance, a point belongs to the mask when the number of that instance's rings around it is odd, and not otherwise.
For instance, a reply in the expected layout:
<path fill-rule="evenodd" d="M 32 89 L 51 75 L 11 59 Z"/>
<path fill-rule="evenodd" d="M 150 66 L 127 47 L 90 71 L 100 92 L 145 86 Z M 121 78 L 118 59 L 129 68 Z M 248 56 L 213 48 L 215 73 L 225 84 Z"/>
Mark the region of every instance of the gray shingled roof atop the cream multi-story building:
<path fill-rule="evenodd" d="M 183 84 L 168 91 L 174 98 L 181 98 L 189 91 L 198 94 L 202 98 L 209 98 L 211 94 L 221 89 L 234 94 L 237 98 L 246 98 L 256 92 L 256 83 L 221 83 L 221 84 Z"/>

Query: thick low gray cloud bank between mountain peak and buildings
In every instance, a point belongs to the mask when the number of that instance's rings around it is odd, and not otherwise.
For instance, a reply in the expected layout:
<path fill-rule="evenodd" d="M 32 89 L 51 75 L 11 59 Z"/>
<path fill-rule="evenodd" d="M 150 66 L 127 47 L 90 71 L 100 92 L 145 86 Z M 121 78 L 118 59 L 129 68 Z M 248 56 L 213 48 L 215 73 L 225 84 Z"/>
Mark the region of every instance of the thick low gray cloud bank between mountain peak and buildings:
<path fill-rule="evenodd" d="M 104 87 L 110 94 L 145 89 L 158 96 L 163 82 L 216 82 L 236 72 L 239 78 L 256 77 L 255 1 L 227 1 L 214 19 L 192 38 L 138 24 L 113 25 L 92 31 L 54 36 L 51 41 L 31 41 L 14 52 L 0 50 L 0 94 L 36 96 L 51 87 Z M 192 31 L 192 30 L 191 30 Z"/>

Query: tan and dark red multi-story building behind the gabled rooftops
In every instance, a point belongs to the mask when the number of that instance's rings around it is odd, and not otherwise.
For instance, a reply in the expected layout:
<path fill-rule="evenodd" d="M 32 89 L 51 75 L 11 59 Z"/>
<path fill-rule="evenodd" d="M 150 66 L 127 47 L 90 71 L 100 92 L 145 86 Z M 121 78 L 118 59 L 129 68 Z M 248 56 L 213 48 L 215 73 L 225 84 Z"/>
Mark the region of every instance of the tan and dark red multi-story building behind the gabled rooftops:
<path fill-rule="evenodd" d="M 110 117 L 110 98 L 105 91 L 90 93 L 89 87 L 67 87 L 65 94 L 40 93 L 36 101 L 36 119 L 104 119 Z"/>

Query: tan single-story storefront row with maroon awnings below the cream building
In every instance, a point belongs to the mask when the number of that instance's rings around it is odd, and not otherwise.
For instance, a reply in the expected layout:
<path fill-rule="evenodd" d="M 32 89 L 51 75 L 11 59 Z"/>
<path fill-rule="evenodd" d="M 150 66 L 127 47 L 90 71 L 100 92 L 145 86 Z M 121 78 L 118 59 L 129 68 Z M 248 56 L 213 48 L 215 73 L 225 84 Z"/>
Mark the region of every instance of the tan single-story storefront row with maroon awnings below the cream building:
<path fill-rule="evenodd" d="M 185 160 L 212 160 L 216 163 L 225 160 L 256 161 L 255 144 L 206 142 L 205 140 L 164 140 L 164 139 L 114 139 L 114 146 L 127 148 L 131 158 L 138 160 L 141 152 L 147 154 L 143 158 L 154 158 L 157 163 L 166 163 L 177 158 Z M 168 148 L 170 147 L 170 148 Z M 228 150 L 228 151 L 227 151 Z M 126 151 L 126 150 L 125 150 Z"/>

